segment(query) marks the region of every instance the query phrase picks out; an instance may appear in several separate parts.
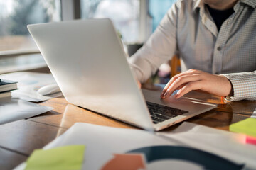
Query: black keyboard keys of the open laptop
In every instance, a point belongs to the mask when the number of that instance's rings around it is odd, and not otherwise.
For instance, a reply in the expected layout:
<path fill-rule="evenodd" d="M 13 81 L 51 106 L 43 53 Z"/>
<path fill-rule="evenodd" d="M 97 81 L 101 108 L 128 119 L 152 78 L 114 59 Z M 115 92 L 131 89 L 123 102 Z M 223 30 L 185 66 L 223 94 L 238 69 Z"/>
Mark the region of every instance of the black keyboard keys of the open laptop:
<path fill-rule="evenodd" d="M 164 120 L 174 118 L 177 115 L 183 115 L 184 113 L 188 113 L 188 111 L 183 111 L 178 108 L 172 108 L 169 106 L 151 103 L 148 101 L 146 101 L 146 105 L 149 108 L 149 113 L 154 124 L 164 122 Z"/>

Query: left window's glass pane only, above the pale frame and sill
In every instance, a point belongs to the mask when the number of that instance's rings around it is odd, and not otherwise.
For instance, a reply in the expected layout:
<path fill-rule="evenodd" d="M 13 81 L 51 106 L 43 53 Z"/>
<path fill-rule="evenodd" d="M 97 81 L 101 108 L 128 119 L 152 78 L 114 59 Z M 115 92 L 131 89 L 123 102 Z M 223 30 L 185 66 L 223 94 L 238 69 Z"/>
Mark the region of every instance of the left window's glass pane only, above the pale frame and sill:
<path fill-rule="evenodd" d="M 0 51 L 34 50 L 27 25 L 60 21 L 60 1 L 0 0 Z"/>

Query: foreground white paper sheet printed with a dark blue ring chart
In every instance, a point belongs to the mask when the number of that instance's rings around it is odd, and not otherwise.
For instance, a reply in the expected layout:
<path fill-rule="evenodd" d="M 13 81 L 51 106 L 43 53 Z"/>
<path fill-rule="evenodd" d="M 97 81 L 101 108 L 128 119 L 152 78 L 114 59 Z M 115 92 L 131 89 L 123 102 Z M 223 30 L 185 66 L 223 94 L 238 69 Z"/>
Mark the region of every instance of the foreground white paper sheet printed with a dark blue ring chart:
<path fill-rule="evenodd" d="M 214 154 L 191 147 L 183 147 L 176 140 L 166 140 L 164 137 L 159 137 L 145 130 L 75 123 L 63 135 L 60 135 L 43 149 L 66 145 L 86 145 L 82 169 L 106 170 L 110 169 L 113 162 L 122 166 L 120 163 L 122 159 L 125 159 L 127 163 L 132 160 L 131 156 L 140 157 L 137 169 L 146 167 L 149 170 L 161 170 L 171 167 L 171 169 L 198 170 L 210 169 L 209 164 L 210 167 L 218 166 L 218 169 L 221 169 L 220 167 L 225 168 L 223 165 L 227 164 L 228 166 L 235 166 L 236 169 L 241 169 L 241 165 L 228 162 Z M 197 160 L 195 162 L 191 161 L 195 160 L 195 157 Z M 133 161 L 129 162 L 129 165 L 133 163 Z M 16 167 L 16 170 L 25 167 L 26 164 L 21 164 Z M 119 167 L 119 169 L 122 169 L 122 167 Z"/>

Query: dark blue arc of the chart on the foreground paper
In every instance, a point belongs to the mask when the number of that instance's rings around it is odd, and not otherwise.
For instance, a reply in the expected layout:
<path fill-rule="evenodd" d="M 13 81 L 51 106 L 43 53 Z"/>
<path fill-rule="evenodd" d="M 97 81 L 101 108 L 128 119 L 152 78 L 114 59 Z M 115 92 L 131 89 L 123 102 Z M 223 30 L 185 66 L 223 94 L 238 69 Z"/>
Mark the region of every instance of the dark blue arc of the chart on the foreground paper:
<path fill-rule="evenodd" d="M 163 160 L 178 160 L 179 162 L 197 164 L 203 169 L 242 169 L 244 164 L 235 164 L 228 159 L 209 152 L 190 147 L 151 146 L 131 150 L 126 154 L 144 154 L 146 164 L 155 164 Z"/>

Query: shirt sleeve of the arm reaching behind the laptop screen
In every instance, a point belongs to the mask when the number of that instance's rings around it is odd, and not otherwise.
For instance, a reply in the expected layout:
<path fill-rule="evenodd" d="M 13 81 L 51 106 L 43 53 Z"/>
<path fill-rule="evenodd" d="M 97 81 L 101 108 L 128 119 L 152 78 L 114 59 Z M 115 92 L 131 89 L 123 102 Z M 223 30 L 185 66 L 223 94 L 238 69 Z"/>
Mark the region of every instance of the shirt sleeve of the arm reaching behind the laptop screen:
<path fill-rule="evenodd" d="M 174 4 L 144 46 L 128 59 L 132 72 L 144 83 L 161 64 L 176 54 L 178 5 Z"/>

